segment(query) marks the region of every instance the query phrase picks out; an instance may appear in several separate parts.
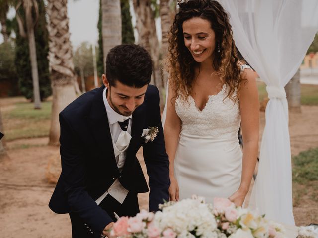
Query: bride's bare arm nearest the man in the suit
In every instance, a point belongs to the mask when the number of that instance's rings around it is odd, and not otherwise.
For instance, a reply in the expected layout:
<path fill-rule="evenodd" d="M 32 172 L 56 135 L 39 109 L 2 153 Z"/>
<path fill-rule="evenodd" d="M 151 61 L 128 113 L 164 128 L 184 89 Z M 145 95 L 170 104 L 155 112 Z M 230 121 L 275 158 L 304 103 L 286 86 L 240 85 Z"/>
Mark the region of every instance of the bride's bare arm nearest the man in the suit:
<path fill-rule="evenodd" d="M 178 117 L 175 111 L 175 97 L 174 93 L 169 87 L 168 98 L 166 100 L 167 112 L 166 120 L 164 123 L 164 140 L 166 152 L 169 156 L 169 173 L 170 173 L 170 182 L 169 194 L 171 201 L 179 200 L 179 186 L 174 177 L 174 156 L 179 140 L 179 135 L 181 131 L 181 120 Z"/>

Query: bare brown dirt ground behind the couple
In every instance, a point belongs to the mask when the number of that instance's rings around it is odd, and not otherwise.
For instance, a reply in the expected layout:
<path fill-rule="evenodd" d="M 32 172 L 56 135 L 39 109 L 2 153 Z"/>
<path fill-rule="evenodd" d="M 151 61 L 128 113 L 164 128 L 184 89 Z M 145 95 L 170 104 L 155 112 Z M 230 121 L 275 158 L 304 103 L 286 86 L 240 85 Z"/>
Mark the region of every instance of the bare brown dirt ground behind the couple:
<path fill-rule="evenodd" d="M 303 106 L 301 111 L 290 113 L 292 155 L 318 147 L 318 106 Z M 264 120 L 264 113 L 261 113 L 261 130 Z M 58 153 L 58 148 L 47 143 L 48 138 L 7 143 L 9 158 L 0 161 L 1 238 L 71 237 L 69 216 L 55 214 L 48 207 L 54 185 L 48 184 L 46 169 L 49 158 Z M 140 152 L 138 157 L 142 161 Z M 147 201 L 148 194 L 140 194 L 142 208 L 147 208 Z M 318 223 L 317 205 L 304 196 L 302 202 L 294 207 L 296 225 Z"/>

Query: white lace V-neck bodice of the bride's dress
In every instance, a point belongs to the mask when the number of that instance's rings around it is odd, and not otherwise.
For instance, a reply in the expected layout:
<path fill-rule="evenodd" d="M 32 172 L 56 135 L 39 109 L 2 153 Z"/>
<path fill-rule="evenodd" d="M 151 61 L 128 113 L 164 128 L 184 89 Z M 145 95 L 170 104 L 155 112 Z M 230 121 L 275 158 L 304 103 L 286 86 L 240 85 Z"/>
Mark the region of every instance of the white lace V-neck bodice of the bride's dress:
<path fill-rule="evenodd" d="M 182 122 L 181 134 L 237 138 L 240 124 L 239 102 L 234 103 L 230 98 L 225 98 L 226 91 L 224 84 L 218 94 L 209 96 L 202 111 L 191 96 L 188 102 L 178 98 L 175 110 Z"/>

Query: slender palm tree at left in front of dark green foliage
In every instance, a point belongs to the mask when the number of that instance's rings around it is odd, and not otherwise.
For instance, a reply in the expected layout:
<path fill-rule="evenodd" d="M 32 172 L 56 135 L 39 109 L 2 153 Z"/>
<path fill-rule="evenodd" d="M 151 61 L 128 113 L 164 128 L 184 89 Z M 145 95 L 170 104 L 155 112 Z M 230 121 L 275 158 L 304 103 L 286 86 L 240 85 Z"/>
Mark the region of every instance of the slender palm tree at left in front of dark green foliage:
<path fill-rule="evenodd" d="M 24 29 L 22 18 L 18 11 L 21 5 L 23 6 L 25 11 L 26 32 Z M 39 16 L 38 3 L 36 0 L 19 0 L 17 2 L 15 9 L 16 9 L 16 20 L 19 25 L 19 33 L 22 37 L 27 37 L 28 43 L 29 43 L 29 52 L 30 52 L 30 60 L 31 60 L 31 68 L 32 68 L 32 80 L 33 80 L 34 108 L 41 109 L 39 73 L 38 73 L 38 63 L 36 59 L 35 38 L 34 38 L 34 26 Z M 35 19 L 33 19 L 32 11 L 35 12 Z"/>

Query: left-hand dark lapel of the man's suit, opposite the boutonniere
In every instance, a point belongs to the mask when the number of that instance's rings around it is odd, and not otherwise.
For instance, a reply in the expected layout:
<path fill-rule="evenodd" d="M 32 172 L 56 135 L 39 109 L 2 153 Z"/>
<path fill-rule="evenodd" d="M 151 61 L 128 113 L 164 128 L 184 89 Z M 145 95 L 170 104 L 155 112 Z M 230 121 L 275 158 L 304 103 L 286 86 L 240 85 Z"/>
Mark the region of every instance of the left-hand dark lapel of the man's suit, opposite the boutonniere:
<path fill-rule="evenodd" d="M 102 153 L 101 157 L 105 158 L 101 163 L 107 163 L 108 166 L 110 165 L 114 171 L 116 171 L 118 168 L 115 160 L 106 108 L 103 101 L 104 88 L 104 86 L 100 87 L 97 94 L 94 96 L 91 112 L 88 116 L 88 123 L 96 140 L 95 142 Z"/>

